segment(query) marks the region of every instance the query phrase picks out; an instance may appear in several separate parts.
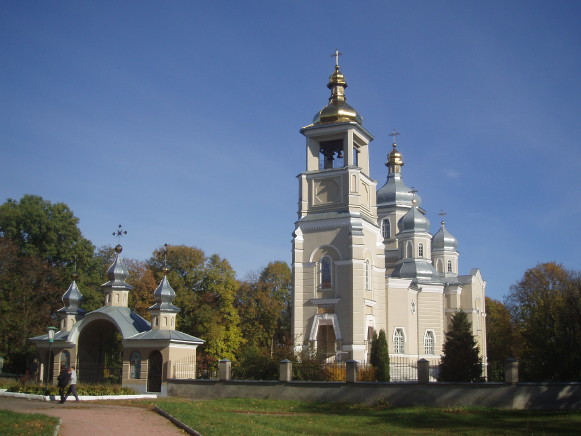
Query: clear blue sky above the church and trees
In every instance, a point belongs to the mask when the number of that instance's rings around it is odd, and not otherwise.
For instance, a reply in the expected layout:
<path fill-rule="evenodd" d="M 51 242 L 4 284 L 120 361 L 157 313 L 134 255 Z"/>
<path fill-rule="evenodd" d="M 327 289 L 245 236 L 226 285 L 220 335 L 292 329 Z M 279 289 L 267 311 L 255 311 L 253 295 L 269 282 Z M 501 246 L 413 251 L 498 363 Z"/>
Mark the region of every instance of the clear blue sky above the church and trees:
<path fill-rule="evenodd" d="M 2 1 L 0 201 L 64 202 L 97 246 L 186 244 L 239 278 L 291 260 L 305 141 L 339 48 L 460 269 L 500 299 L 581 255 L 581 2 Z"/>

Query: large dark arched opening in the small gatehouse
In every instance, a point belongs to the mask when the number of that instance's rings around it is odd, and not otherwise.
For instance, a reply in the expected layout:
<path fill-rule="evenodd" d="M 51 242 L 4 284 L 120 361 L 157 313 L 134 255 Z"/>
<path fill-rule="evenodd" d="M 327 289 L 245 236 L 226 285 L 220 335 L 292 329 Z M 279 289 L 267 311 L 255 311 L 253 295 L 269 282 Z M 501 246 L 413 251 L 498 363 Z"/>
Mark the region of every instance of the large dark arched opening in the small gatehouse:
<path fill-rule="evenodd" d="M 113 323 L 100 319 L 83 328 L 77 367 L 83 383 L 121 383 L 123 341 Z"/>

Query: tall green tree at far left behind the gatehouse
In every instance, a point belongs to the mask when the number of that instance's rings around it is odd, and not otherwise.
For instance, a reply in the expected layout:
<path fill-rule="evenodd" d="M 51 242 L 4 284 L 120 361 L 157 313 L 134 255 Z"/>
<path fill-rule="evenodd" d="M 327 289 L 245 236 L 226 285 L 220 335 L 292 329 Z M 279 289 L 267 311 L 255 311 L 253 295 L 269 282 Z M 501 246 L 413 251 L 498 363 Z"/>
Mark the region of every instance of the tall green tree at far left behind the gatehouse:
<path fill-rule="evenodd" d="M 88 281 L 95 270 L 93 244 L 78 222 L 67 205 L 39 196 L 0 205 L 0 354 L 14 372 L 34 356 L 28 338 L 54 323 L 73 269 Z"/>

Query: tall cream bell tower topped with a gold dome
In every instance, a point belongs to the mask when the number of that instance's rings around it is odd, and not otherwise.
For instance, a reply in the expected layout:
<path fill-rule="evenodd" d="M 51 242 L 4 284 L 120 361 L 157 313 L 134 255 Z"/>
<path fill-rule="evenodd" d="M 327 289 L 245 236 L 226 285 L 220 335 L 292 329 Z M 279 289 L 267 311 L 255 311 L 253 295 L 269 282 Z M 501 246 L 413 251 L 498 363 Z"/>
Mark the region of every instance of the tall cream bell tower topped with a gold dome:
<path fill-rule="evenodd" d="M 297 350 L 367 361 L 372 329 L 385 322 L 385 255 L 369 176 L 373 136 L 346 102 L 340 54 L 329 103 L 301 129 L 306 169 L 298 176 L 292 330 Z"/>

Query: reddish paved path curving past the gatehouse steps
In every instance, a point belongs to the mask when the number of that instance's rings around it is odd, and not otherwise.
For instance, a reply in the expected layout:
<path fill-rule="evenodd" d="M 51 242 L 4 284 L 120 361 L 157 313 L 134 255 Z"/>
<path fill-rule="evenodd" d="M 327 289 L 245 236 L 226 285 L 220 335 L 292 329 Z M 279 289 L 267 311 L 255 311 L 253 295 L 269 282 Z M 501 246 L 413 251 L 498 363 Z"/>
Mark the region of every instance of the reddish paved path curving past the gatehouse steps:
<path fill-rule="evenodd" d="M 62 419 L 60 436 L 183 436 L 185 434 L 161 415 L 140 407 L 82 401 L 80 403 L 67 401 L 65 404 L 59 404 L 58 402 L 0 397 L 0 409 L 57 416 Z"/>

